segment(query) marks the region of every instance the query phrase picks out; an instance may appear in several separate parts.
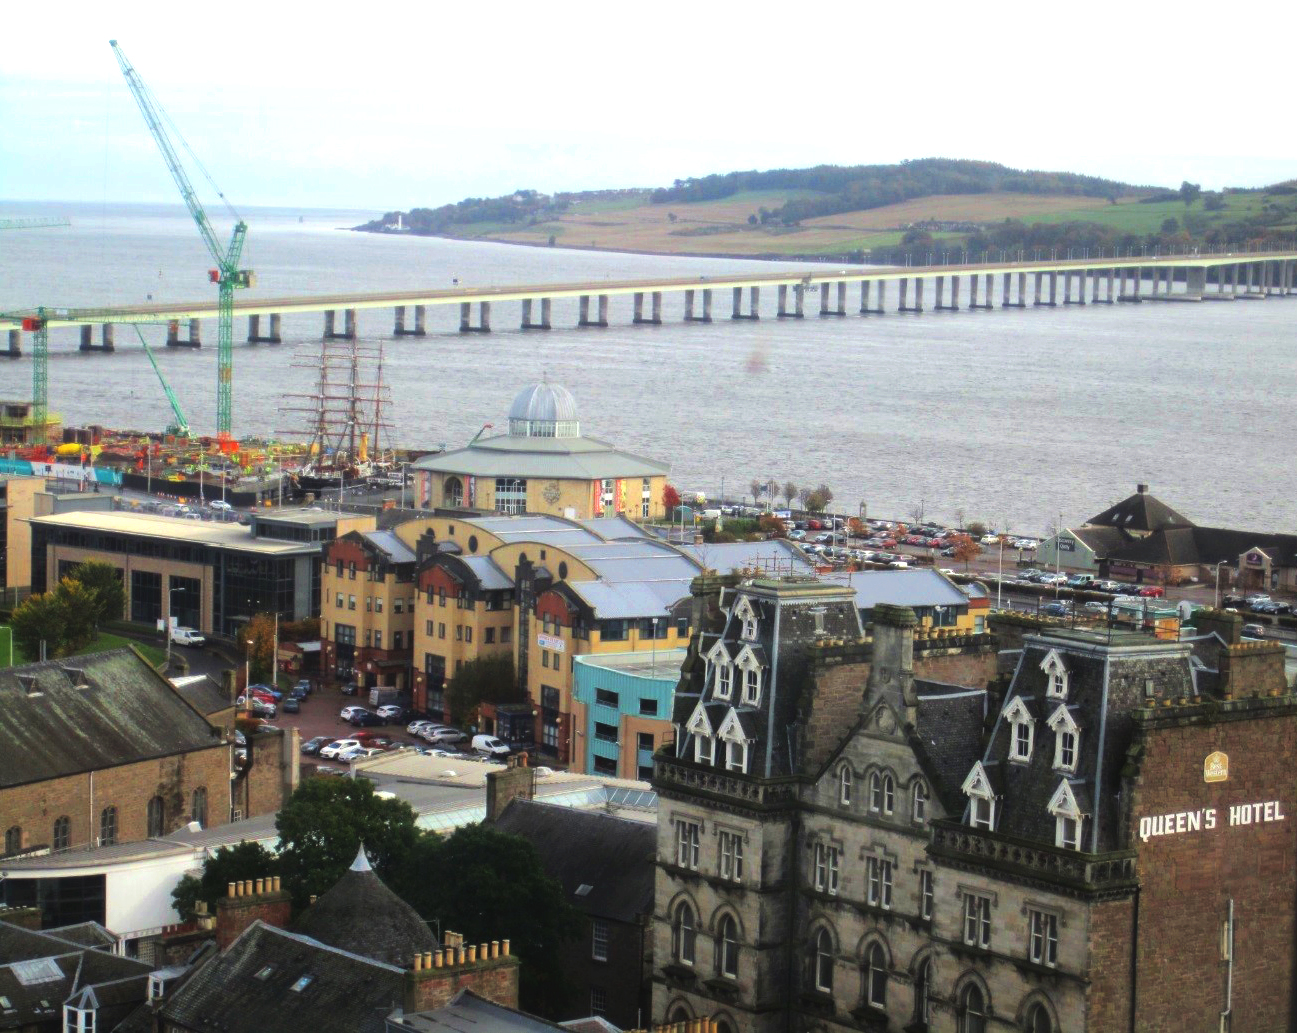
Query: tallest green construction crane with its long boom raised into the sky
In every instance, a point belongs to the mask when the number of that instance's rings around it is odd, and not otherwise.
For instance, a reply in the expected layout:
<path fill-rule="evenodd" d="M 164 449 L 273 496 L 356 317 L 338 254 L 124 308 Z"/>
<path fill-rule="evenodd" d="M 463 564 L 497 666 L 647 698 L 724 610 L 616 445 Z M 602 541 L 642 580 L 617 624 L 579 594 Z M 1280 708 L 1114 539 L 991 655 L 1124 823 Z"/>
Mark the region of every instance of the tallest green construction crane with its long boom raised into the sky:
<path fill-rule="evenodd" d="M 171 139 L 167 136 L 166 128 L 163 127 L 163 121 L 170 119 L 166 119 L 166 115 L 153 99 L 149 88 L 144 84 L 140 74 L 135 70 L 131 62 L 126 60 L 126 55 L 123 55 L 122 48 L 117 45 L 117 40 L 109 40 L 109 45 L 113 48 L 113 53 L 117 55 L 117 64 L 122 66 L 122 75 L 126 77 L 126 84 L 131 88 L 135 103 L 140 105 L 140 112 L 143 113 L 144 121 L 149 127 L 149 132 L 153 134 L 153 140 L 157 143 L 158 151 L 162 152 L 162 160 L 166 162 L 166 167 L 171 171 L 171 178 L 180 189 L 180 196 L 184 199 L 185 208 L 189 209 L 189 214 L 193 217 L 193 221 L 198 227 L 202 243 L 206 245 L 208 253 L 217 263 L 217 267 L 210 270 L 208 274 L 209 279 L 215 283 L 219 289 L 219 304 L 217 306 L 219 313 L 217 332 L 217 437 L 222 441 L 228 441 L 232 436 L 231 427 L 233 410 L 235 289 L 239 287 L 252 287 L 256 283 L 256 276 L 252 270 L 239 269 L 239 257 L 243 254 L 244 237 L 248 234 L 248 225 L 243 219 L 237 219 L 233 234 L 230 237 L 230 244 L 222 249 L 220 241 L 217 239 L 217 234 L 211 228 L 211 222 L 208 219 L 208 213 L 202 210 L 202 204 L 198 201 L 198 196 L 195 193 L 193 186 L 189 183 L 189 178 L 184 173 L 184 166 L 180 165 L 180 158 L 176 156 L 175 148 L 171 145 Z M 192 151 L 189 153 L 191 156 L 193 154 Z M 210 182 L 211 176 L 208 176 L 208 180 Z M 220 199 L 224 200 L 223 193 L 219 191 L 217 191 L 217 193 L 219 193 Z M 226 206 L 228 208 L 228 201 L 226 202 Z M 230 210 L 233 213 L 232 208 Z M 235 218 L 237 218 L 237 213 L 233 214 Z"/>

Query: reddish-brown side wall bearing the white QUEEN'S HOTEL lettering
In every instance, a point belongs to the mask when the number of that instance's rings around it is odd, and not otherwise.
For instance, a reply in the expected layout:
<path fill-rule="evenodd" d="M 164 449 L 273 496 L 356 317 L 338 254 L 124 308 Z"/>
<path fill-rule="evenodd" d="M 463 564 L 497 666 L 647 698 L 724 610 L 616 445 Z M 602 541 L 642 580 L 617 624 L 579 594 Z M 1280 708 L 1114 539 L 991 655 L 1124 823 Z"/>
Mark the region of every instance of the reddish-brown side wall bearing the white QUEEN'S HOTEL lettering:
<path fill-rule="evenodd" d="M 1243 699 L 1219 710 L 1209 719 L 1198 707 L 1160 709 L 1144 711 L 1139 723 L 1144 755 L 1127 785 L 1127 834 L 1139 850 L 1141 882 L 1136 1025 L 1149 1033 L 1219 1029 L 1227 975 L 1222 925 L 1231 899 L 1232 1028 L 1292 1028 L 1297 703 Z M 1204 760 L 1218 750 L 1228 755 L 1228 777 L 1208 783 Z M 1230 825 L 1231 806 L 1266 801 L 1283 820 Z M 1213 829 L 1139 838 L 1141 818 L 1205 808 L 1215 811 Z M 1183 977 L 1169 977 L 1171 971 Z"/>

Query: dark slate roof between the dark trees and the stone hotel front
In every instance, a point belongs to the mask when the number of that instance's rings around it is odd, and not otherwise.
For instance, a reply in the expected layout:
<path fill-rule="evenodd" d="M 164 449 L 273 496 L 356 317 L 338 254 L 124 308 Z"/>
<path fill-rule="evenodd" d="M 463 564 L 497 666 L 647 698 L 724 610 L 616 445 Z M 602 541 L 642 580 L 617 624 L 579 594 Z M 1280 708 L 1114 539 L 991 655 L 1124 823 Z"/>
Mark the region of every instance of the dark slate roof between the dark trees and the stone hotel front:
<path fill-rule="evenodd" d="M 654 825 L 515 799 L 495 819 L 495 827 L 530 842 L 568 903 L 588 915 L 634 923 L 652 911 Z M 573 850 L 573 844 L 580 844 L 580 850 Z"/>

